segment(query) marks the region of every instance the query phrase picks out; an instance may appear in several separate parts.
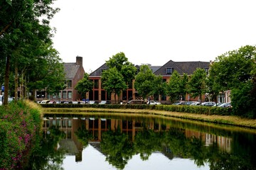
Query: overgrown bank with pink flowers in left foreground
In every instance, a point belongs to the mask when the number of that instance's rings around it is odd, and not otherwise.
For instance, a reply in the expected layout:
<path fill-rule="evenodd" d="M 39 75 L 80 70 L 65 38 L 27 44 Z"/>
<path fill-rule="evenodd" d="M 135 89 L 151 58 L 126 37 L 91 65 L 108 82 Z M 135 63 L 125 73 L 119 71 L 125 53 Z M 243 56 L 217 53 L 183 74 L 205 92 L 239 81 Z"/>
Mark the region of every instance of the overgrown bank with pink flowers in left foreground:
<path fill-rule="evenodd" d="M 39 143 L 41 115 L 41 107 L 29 101 L 0 106 L 0 169 L 26 166 Z"/>

